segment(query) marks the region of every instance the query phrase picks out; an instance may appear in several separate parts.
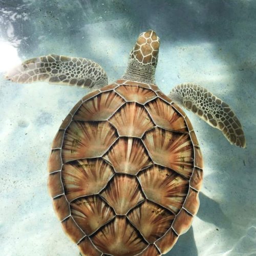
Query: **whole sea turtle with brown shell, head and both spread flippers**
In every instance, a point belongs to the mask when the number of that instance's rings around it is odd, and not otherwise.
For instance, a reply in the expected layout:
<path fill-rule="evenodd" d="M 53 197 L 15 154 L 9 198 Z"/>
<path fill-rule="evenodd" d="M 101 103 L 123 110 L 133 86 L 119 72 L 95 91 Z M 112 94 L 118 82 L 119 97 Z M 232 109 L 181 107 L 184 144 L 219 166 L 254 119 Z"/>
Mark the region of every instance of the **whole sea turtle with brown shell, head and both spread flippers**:
<path fill-rule="evenodd" d="M 82 255 L 161 255 L 189 229 L 203 160 L 180 106 L 231 144 L 246 145 L 236 115 L 206 89 L 185 83 L 168 96 L 159 90 L 159 45 L 155 31 L 141 33 L 124 75 L 109 85 L 94 61 L 58 55 L 29 59 L 6 76 L 94 90 L 60 125 L 48 162 L 54 210 Z"/>

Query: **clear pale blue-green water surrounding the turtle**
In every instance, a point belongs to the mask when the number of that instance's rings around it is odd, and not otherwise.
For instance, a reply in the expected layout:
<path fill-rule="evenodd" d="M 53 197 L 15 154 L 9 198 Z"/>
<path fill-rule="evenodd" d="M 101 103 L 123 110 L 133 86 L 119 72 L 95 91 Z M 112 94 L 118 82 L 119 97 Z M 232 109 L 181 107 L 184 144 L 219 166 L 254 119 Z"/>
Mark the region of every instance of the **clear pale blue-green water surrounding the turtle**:
<path fill-rule="evenodd" d="M 229 103 L 247 148 L 187 113 L 204 156 L 201 206 L 168 255 L 256 255 L 255 1 L 0 1 L 0 255 L 78 255 L 47 192 L 46 163 L 63 118 L 87 93 L 3 79 L 17 61 L 87 57 L 119 78 L 138 34 L 161 39 L 156 83 L 204 86 Z"/>

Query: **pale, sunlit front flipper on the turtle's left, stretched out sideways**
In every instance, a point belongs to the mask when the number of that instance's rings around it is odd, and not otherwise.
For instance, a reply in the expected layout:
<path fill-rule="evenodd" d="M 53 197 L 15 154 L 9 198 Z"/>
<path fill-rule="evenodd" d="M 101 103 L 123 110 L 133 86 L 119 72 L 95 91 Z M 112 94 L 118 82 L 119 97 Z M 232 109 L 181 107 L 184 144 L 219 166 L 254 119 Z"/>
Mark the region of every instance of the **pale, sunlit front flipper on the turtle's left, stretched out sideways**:
<path fill-rule="evenodd" d="M 108 84 L 105 71 L 96 62 L 55 54 L 24 61 L 10 70 L 6 79 L 19 83 L 44 81 L 93 89 Z"/>

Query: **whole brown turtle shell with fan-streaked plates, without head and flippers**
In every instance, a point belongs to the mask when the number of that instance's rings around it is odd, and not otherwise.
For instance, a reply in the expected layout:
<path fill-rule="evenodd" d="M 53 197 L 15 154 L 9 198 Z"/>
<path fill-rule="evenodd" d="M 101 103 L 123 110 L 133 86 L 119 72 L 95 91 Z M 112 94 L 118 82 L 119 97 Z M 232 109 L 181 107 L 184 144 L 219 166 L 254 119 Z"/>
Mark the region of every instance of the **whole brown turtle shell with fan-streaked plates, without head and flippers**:
<path fill-rule="evenodd" d="M 61 124 L 48 186 L 83 255 L 161 255 L 197 214 L 202 167 L 184 112 L 155 85 L 117 80 Z"/>

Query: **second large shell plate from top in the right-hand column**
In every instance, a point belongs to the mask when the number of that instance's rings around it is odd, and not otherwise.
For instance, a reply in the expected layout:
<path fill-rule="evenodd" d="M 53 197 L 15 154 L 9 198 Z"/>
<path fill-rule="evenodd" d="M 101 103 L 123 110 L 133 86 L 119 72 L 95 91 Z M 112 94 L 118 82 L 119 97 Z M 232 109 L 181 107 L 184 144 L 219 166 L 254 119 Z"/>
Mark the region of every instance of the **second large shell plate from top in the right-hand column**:
<path fill-rule="evenodd" d="M 194 152 L 188 134 L 157 127 L 146 132 L 142 140 L 156 164 L 172 168 L 187 179 L 190 178 L 194 167 Z"/>

